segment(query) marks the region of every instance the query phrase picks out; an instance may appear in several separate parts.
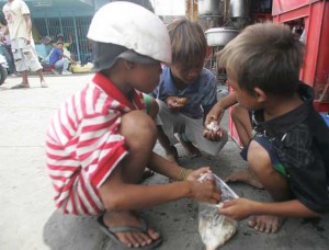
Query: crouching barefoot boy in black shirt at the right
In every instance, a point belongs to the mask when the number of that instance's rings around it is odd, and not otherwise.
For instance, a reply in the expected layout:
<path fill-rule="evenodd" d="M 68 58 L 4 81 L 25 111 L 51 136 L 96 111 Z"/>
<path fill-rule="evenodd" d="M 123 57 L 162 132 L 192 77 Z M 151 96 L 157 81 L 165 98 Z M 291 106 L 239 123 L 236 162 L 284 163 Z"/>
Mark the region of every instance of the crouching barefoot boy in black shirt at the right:
<path fill-rule="evenodd" d="M 275 232 L 283 217 L 329 211 L 329 129 L 314 110 L 313 89 L 298 80 L 303 44 L 290 27 L 254 24 L 226 45 L 220 63 L 237 101 L 251 112 L 249 171 L 274 200 L 237 198 L 219 213 Z"/>

